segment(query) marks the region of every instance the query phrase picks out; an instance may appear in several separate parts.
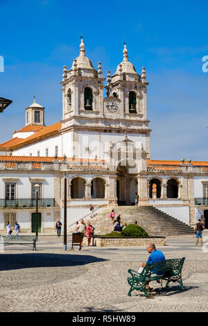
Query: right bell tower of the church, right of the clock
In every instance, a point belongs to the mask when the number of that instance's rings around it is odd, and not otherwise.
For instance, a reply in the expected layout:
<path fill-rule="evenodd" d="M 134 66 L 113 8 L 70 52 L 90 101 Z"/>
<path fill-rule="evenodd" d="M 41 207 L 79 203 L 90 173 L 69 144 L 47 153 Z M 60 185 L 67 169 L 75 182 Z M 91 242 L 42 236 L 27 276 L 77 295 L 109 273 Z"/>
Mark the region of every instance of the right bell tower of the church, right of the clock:
<path fill-rule="evenodd" d="M 150 157 L 150 129 L 147 118 L 147 85 L 146 70 L 142 68 L 141 75 L 137 74 L 135 66 L 128 60 L 126 45 L 123 49 L 123 61 L 116 68 L 115 74 L 107 75 L 107 98 L 104 98 L 105 117 L 110 116 L 108 106 L 114 103 L 117 106 L 117 119 L 120 120 L 120 129 L 141 135 L 144 148 Z M 109 103 L 109 105 L 108 105 Z M 112 112 L 112 110 L 111 110 Z"/>

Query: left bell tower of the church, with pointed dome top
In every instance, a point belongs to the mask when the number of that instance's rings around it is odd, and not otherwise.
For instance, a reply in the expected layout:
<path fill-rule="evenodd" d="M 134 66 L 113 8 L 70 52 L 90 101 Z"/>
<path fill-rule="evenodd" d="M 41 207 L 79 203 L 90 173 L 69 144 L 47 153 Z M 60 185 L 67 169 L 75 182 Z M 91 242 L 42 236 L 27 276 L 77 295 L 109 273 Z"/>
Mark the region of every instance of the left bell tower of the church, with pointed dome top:
<path fill-rule="evenodd" d="M 90 123 L 92 118 L 103 116 L 103 71 L 101 62 L 98 70 L 85 55 L 83 39 L 80 55 L 73 60 L 71 69 L 64 66 L 62 74 L 62 128 Z M 73 117 L 73 119 L 72 119 Z M 85 124 L 84 123 L 84 124 Z"/>

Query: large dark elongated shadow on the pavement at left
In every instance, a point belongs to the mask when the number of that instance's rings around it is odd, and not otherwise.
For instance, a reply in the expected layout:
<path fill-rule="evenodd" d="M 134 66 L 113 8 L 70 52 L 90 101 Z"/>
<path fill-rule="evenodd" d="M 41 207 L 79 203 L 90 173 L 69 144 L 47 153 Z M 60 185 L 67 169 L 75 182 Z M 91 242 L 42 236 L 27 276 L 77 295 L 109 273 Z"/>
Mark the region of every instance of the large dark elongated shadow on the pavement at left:
<path fill-rule="evenodd" d="M 108 259 L 84 255 L 62 255 L 45 253 L 1 254 L 0 271 L 36 267 L 83 266 L 86 264 L 107 260 Z"/>

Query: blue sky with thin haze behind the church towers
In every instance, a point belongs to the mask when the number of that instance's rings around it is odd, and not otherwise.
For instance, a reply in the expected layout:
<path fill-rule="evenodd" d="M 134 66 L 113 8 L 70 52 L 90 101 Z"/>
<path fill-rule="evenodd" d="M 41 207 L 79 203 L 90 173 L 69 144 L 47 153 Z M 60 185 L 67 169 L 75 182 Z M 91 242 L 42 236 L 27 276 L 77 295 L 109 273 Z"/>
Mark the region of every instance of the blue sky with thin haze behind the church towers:
<path fill-rule="evenodd" d="M 47 126 L 62 119 L 62 67 L 71 68 L 83 34 L 105 78 L 122 61 L 124 41 L 137 72 L 146 67 L 150 157 L 207 161 L 207 12 L 207 0 L 0 0 L 0 96 L 13 101 L 0 116 L 0 141 L 24 126 L 34 95 Z"/>

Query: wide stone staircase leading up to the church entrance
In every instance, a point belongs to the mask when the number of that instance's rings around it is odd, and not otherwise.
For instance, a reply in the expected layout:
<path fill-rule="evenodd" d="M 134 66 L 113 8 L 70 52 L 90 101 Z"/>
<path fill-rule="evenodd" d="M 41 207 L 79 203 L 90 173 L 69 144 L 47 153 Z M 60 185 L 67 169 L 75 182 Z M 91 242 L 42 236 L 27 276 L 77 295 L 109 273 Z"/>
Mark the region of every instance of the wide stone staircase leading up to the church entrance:
<path fill-rule="evenodd" d="M 153 206 L 106 206 L 96 216 L 85 220 L 90 221 L 95 228 L 95 234 L 107 234 L 112 232 L 113 226 L 109 217 L 114 209 L 115 216 L 121 214 L 121 222 L 128 224 L 137 221 L 141 228 L 148 232 L 149 236 L 168 236 L 193 234 L 193 228 L 168 215 Z"/>

